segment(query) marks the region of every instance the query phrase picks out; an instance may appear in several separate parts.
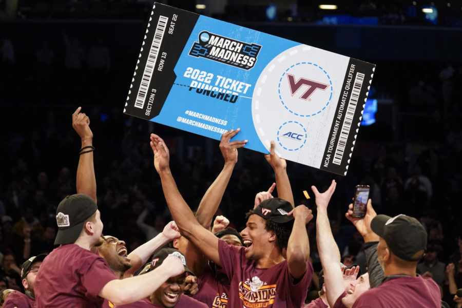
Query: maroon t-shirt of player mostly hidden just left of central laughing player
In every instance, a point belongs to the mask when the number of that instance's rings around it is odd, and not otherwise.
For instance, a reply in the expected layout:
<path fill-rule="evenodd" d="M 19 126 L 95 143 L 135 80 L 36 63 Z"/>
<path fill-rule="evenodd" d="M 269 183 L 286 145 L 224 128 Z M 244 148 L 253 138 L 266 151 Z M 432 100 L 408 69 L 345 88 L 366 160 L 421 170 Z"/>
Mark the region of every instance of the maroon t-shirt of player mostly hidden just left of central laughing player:
<path fill-rule="evenodd" d="M 193 298 L 205 303 L 210 308 L 226 307 L 229 283 L 224 284 L 218 280 L 209 264 L 207 264 L 202 274 L 197 278 L 197 285 L 199 292 Z"/>

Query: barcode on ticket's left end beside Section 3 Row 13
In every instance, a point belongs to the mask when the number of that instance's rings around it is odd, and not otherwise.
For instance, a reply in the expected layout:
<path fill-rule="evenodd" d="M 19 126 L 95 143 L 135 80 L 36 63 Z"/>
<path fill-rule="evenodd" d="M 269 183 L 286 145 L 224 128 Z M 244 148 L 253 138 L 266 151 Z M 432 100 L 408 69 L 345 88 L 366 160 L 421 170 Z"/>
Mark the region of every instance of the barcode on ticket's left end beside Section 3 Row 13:
<path fill-rule="evenodd" d="M 144 107 L 144 102 L 146 101 L 146 93 L 151 82 L 152 72 L 156 66 L 157 54 L 159 53 L 159 48 L 162 44 L 162 38 L 164 37 L 164 31 L 167 22 L 168 17 L 159 17 L 159 22 L 157 23 L 156 32 L 154 34 L 154 40 L 152 40 L 151 49 L 149 50 L 149 56 L 144 68 L 143 78 L 141 79 L 140 89 L 138 89 L 137 99 L 135 101 L 136 108 L 143 109 Z"/>

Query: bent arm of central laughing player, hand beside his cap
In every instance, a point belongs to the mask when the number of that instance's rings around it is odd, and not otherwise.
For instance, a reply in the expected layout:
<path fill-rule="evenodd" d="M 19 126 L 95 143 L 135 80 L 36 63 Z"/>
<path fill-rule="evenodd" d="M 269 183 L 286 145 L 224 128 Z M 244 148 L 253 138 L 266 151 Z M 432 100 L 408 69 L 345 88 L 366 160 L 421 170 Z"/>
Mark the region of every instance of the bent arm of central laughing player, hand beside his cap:
<path fill-rule="evenodd" d="M 300 279 L 305 274 L 310 260 L 310 241 L 306 224 L 313 219 L 313 213 L 302 204 L 288 215 L 294 216 L 294 226 L 287 242 L 287 266 L 292 277 Z"/>

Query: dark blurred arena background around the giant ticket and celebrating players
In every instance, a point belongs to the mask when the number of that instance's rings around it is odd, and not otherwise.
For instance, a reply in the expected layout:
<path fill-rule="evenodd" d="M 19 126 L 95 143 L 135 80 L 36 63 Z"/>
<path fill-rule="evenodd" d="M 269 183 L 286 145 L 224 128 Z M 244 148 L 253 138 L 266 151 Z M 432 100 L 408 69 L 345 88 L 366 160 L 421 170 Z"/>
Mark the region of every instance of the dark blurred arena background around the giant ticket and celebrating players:
<path fill-rule="evenodd" d="M 375 63 L 370 112 L 348 175 L 288 162 L 295 200 L 313 207 L 302 191 L 325 189 L 335 178 L 333 232 L 342 255 L 360 262 L 361 239 L 344 212 L 355 185 L 368 184 L 379 214 L 419 218 L 437 258 L 459 264 L 461 1 L 161 2 Z M 53 248 L 56 205 L 75 192 L 80 140 L 71 113 L 78 106 L 94 134 L 104 233 L 123 238 L 130 251 L 169 220 L 150 132 L 166 139 L 172 171 L 193 209 L 220 172 L 217 141 L 122 112 L 152 4 L 0 0 L 0 252 L 16 262 L 26 257 L 24 227 L 32 229 L 32 255 Z M 255 194 L 273 180 L 261 153 L 240 150 L 220 213 L 241 229 Z M 310 230 L 319 267 L 314 220 Z M 462 262 L 458 267 L 462 272 Z"/>

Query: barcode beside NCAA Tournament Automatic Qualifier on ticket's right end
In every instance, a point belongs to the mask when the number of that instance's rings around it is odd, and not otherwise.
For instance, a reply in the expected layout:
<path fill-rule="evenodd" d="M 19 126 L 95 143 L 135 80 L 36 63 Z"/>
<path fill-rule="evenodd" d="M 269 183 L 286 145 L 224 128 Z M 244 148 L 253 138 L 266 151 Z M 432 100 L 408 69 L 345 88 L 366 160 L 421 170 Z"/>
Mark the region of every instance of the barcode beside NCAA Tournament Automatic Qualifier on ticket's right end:
<path fill-rule="evenodd" d="M 345 113 L 345 119 L 343 120 L 342 129 L 340 131 L 340 137 L 338 138 L 337 148 L 335 149 L 334 160 L 332 161 L 336 165 L 340 165 L 345 146 L 347 145 L 348 134 L 350 133 L 351 123 L 355 115 L 356 105 L 358 104 L 359 92 L 361 91 L 361 85 L 364 81 L 364 74 L 356 73 L 355 83 L 351 90 L 350 101 L 348 102 L 347 112 Z"/>

